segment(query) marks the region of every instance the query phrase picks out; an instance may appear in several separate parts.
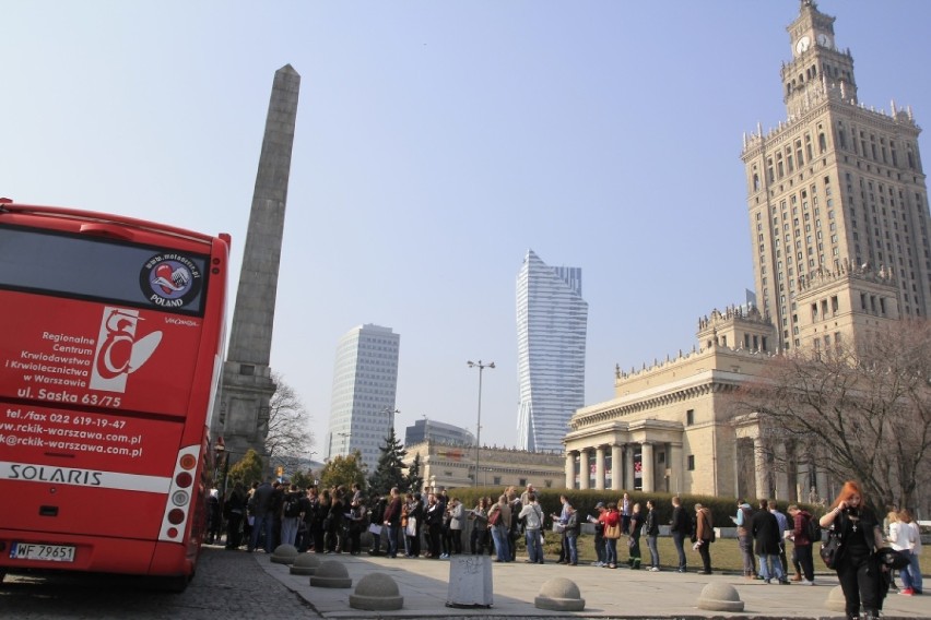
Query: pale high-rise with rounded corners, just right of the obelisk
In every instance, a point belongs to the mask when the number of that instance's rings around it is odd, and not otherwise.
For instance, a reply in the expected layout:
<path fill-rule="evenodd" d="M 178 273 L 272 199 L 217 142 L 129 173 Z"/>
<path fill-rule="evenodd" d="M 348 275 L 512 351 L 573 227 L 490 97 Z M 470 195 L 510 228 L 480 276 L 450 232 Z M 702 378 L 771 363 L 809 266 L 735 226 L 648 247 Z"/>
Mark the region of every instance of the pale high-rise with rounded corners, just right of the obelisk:
<path fill-rule="evenodd" d="M 385 438 L 394 426 L 398 351 L 401 335 L 365 324 L 350 330 L 337 346 L 327 456 L 356 450 L 369 472 L 378 464 Z"/>

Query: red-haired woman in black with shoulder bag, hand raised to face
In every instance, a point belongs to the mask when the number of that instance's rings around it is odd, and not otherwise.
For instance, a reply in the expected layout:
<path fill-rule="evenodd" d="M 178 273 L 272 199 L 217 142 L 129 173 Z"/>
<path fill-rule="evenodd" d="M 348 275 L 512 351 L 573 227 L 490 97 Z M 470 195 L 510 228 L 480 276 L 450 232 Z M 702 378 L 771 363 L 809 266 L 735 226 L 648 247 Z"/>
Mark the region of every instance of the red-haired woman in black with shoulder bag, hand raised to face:
<path fill-rule="evenodd" d="M 865 504 L 860 485 L 847 480 L 830 510 L 818 521 L 841 540 L 835 570 L 844 591 L 848 620 L 861 618 L 861 606 L 862 618 L 875 620 L 883 603 L 880 562 L 875 555 L 876 549 L 883 547 L 882 522 Z"/>

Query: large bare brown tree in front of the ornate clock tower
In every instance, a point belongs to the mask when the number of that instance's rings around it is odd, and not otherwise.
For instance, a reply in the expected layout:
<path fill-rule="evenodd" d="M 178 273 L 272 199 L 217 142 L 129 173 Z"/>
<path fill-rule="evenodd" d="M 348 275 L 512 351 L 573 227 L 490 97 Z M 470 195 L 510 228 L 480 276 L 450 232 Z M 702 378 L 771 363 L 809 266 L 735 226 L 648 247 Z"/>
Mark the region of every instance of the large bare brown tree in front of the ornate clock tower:
<path fill-rule="evenodd" d="M 731 405 L 757 417 L 775 468 L 789 470 L 799 455 L 816 458 L 835 480 L 859 480 L 877 509 L 915 506 L 930 479 L 929 381 L 931 323 L 898 321 L 857 350 L 836 346 L 774 358 Z M 786 445 L 793 450 L 782 451 Z"/>

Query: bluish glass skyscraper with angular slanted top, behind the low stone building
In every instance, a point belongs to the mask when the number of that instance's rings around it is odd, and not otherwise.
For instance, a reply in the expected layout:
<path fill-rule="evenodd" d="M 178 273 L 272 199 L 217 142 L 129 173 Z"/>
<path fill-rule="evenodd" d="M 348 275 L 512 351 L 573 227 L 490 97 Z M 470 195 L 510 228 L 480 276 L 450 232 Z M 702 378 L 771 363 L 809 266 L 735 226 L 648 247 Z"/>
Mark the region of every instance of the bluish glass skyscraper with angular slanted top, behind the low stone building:
<path fill-rule="evenodd" d="M 581 267 L 551 267 L 528 250 L 517 276 L 518 448 L 563 450 L 585 405 L 587 326 Z"/>

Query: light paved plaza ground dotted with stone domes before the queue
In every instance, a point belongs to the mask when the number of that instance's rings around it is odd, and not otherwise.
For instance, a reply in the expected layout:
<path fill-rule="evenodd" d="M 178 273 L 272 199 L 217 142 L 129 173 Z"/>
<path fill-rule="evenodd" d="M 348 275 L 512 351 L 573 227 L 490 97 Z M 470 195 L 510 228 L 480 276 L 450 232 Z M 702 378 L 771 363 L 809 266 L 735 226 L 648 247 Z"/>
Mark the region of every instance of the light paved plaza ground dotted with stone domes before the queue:
<path fill-rule="evenodd" d="M 491 609 L 448 607 L 450 563 L 427 559 L 388 559 L 368 556 L 318 556 L 321 561 L 341 562 L 352 579 L 352 588 L 311 587 L 309 577 L 292 575 L 290 567 L 273 564 L 266 555 L 255 561 L 288 589 L 307 600 L 322 618 L 841 618 L 842 612 L 825 607 L 835 576 L 824 575 L 816 585 L 767 585 L 746 581 L 740 575 L 680 574 L 674 571 L 632 571 L 522 563 L 493 563 L 494 598 Z M 364 611 L 349 606 L 349 596 L 358 581 L 373 572 L 390 575 L 398 584 L 403 607 L 398 611 Z M 538 609 L 533 601 L 544 582 L 553 577 L 575 582 L 586 600 L 585 610 L 557 612 Z M 724 613 L 698 609 L 702 589 L 711 582 L 732 585 L 744 601 L 744 611 Z M 896 596 L 886 598 L 886 620 L 931 618 L 931 597 Z"/>

